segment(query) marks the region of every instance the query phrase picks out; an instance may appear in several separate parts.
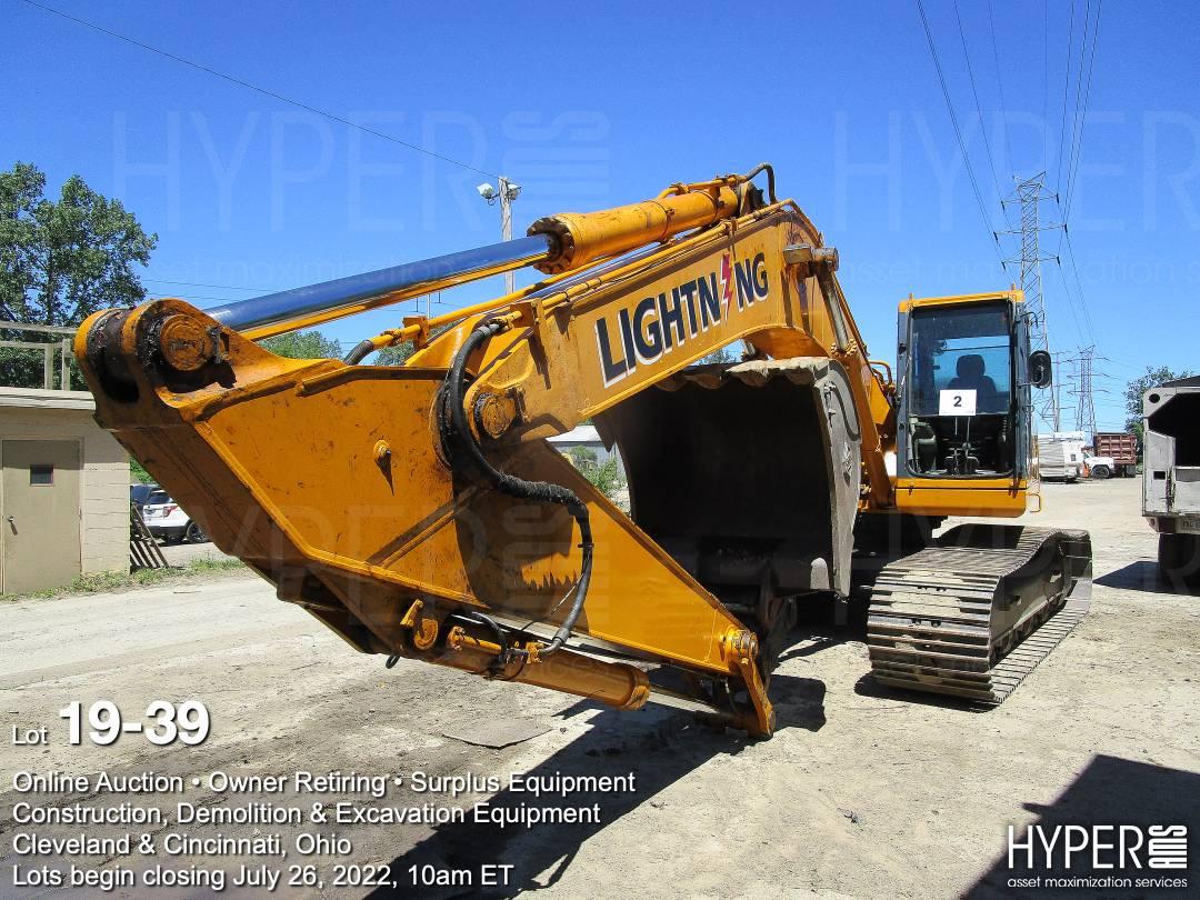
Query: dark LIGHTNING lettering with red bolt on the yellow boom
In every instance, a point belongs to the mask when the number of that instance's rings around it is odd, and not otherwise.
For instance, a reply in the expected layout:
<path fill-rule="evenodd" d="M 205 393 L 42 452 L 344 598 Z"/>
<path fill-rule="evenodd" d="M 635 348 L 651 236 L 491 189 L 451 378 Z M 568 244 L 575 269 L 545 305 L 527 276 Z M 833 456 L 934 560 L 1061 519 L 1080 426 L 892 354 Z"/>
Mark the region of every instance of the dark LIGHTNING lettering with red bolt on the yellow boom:
<path fill-rule="evenodd" d="M 721 256 L 715 270 L 685 281 L 658 296 L 642 298 L 632 308 L 617 310 L 596 320 L 596 347 L 604 383 L 619 382 L 642 366 L 658 362 L 708 329 L 767 299 L 767 258 L 734 262 Z M 737 308 L 733 310 L 733 295 Z"/>

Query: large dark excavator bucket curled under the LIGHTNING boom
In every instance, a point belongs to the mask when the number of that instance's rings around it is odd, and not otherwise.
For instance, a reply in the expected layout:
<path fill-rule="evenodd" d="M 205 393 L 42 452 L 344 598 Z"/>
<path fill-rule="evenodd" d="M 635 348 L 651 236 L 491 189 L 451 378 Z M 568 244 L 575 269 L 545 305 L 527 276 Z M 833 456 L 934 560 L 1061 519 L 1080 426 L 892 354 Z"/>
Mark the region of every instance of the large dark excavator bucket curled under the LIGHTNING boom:
<path fill-rule="evenodd" d="M 828 358 L 686 370 L 598 416 L 629 470 L 632 514 L 726 608 L 769 674 L 804 594 L 846 596 L 859 444 Z"/>

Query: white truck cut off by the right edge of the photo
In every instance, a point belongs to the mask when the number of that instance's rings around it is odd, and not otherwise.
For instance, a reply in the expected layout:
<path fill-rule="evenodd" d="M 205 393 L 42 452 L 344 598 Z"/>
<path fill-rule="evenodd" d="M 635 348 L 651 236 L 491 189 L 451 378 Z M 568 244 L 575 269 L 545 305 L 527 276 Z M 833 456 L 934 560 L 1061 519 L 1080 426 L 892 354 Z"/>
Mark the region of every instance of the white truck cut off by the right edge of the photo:
<path fill-rule="evenodd" d="M 1200 376 L 1141 397 L 1141 511 L 1158 532 L 1158 568 L 1174 584 L 1200 584 Z"/>

